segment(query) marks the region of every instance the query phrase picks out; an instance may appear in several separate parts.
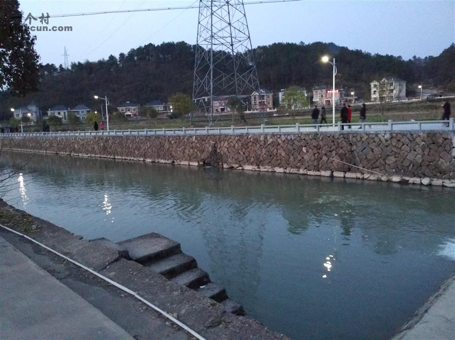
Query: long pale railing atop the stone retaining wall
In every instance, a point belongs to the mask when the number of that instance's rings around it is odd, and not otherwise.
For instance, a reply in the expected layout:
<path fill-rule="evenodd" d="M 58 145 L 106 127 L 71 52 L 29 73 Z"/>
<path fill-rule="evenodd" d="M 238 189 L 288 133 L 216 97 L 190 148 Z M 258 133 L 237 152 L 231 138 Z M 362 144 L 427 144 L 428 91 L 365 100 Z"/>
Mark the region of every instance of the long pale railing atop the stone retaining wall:
<path fill-rule="evenodd" d="M 227 126 L 227 127 L 192 127 L 174 129 L 141 129 L 141 130 L 110 130 L 110 131 L 62 131 L 62 132 L 24 132 L 1 133 L 1 136 L 46 136 L 46 137 L 90 137 L 90 136 L 143 136 L 143 135 L 213 135 L 213 134 L 253 134 L 253 133 L 315 133 L 344 132 L 359 133 L 363 131 L 454 131 L 454 118 L 449 121 L 408 121 L 378 122 L 351 124 L 290 124 L 290 125 L 259 125 L 259 126 Z"/>

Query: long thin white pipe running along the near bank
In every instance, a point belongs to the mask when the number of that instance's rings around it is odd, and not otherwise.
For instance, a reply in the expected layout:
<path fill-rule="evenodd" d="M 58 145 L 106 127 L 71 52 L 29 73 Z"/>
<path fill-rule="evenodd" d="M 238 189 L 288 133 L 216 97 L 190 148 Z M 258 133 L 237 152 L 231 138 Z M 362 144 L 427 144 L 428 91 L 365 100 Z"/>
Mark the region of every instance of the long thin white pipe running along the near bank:
<path fill-rule="evenodd" d="M 178 321 L 175 317 L 173 317 L 172 315 L 168 314 L 167 312 L 165 312 L 163 309 L 160 309 L 158 307 L 156 307 L 155 305 L 151 304 L 150 302 L 148 302 L 147 300 L 145 300 L 144 298 L 142 298 L 140 295 L 136 294 L 134 291 L 132 291 L 131 289 L 125 287 L 125 286 L 122 286 L 120 283 L 117 283 L 113 280 L 111 280 L 110 278 L 106 278 L 104 275 L 101 275 L 97 272 L 95 272 L 93 269 L 90 269 L 86 266 L 84 266 L 83 264 L 77 262 L 77 261 L 74 261 L 72 259 L 70 259 L 68 256 L 65 256 L 61 253 L 59 253 L 58 251 L 54 250 L 54 249 L 51 249 L 45 245 L 43 245 L 42 243 L 39 243 L 38 241 L 32 239 L 31 237 L 27 236 L 27 235 L 24 235 L 24 234 L 21 234 L 20 232 L 16 231 L 16 230 L 13 230 L 13 229 L 10 229 L 8 227 L 5 227 L 4 225 L 0 224 L 0 227 L 14 233 L 14 234 L 17 234 L 17 235 L 20 235 L 22 237 L 25 237 L 27 240 L 29 241 L 32 241 L 33 243 L 49 250 L 49 251 L 52 251 L 54 254 L 56 255 L 59 255 L 60 257 L 63 257 L 64 259 L 70 261 L 71 263 L 74 263 L 76 266 L 82 268 L 82 269 L 85 269 L 86 271 L 92 273 L 93 275 L 96 275 L 97 277 L 109 282 L 110 284 L 112 284 L 113 286 L 123 290 L 124 292 L 128 293 L 128 294 L 131 294 L 133 295 L 136 299 L 142 301 L 144 304 L 146 304 L 147 306 L 155 309 L 157 312 L 161 313 L 162 315 L 166 316 L 168 319 L 170 319 L 172 322 L 174 322 L 176 325 L 180 326 L 181 328 L 183 328 L 185 331 L 187 331 L 188 333 L 191 333 L 192 335 L 194 335 L 197 339 L 199 340 L 206 340 L 203 336 L 199 335 L 198 333 L 196 333 L 195 331 L 193 331 L 191 328 L 189 328 L 188 326 L 186 326 L 185 324 L 181 323 L 180 321 Z"/>

